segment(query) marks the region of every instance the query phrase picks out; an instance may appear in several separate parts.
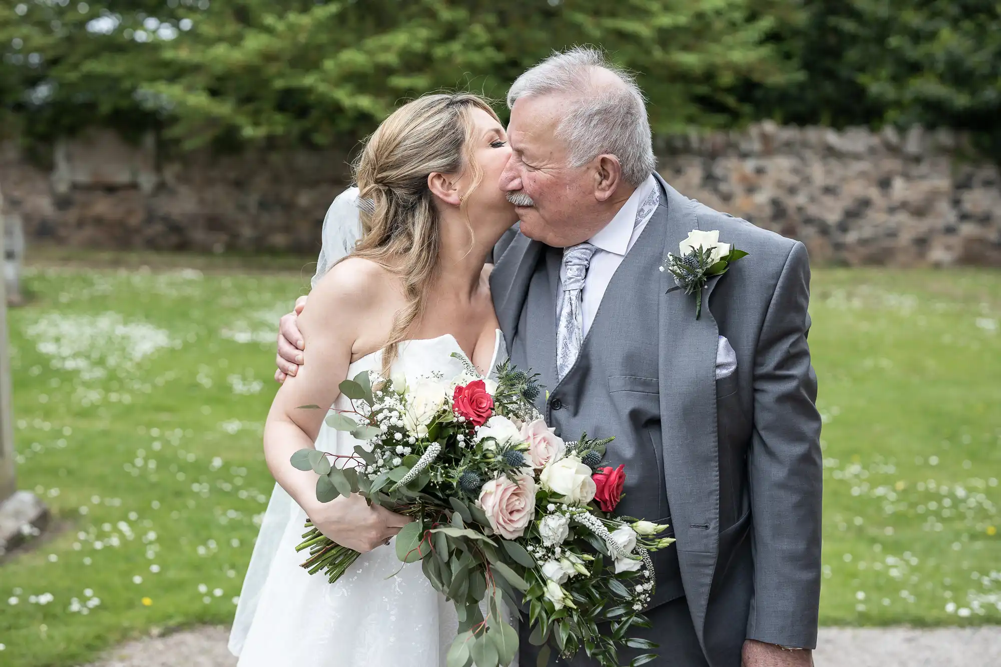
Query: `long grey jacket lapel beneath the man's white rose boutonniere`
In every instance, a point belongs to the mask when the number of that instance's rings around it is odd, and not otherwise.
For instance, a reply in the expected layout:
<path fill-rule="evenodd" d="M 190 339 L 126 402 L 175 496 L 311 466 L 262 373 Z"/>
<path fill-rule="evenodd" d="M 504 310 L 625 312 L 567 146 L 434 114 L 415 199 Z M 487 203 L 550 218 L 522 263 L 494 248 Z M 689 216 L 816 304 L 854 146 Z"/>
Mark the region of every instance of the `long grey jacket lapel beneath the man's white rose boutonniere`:
<path fill-rule="evenodd" d="M 699 218 L 691 200 L 660 176 L 667 194 L 667 234 L 664 256 L 678 252 L 678 244 Z M 661 273 L 662 292 L 660 382 L 661 420 L 666 462 L 665 481 L 678 559 L 689 609 L 700 640 L 706 620 L 710 586 L 716 567 L 720 535 L 720 473 L 716 407 L 716 351 L 719 330 L 708 307 L 718 278 L 703 289 L 702 316 L 695 318 L 695 296 L 675 286 Z"/>

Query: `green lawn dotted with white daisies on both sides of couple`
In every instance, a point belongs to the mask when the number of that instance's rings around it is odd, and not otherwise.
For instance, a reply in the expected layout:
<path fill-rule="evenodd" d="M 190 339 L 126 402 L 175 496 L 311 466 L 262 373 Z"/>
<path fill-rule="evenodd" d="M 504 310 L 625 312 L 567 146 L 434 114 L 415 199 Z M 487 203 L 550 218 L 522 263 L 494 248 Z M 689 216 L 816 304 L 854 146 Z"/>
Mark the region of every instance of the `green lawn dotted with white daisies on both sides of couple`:
<path fill-rule="evenodd" d="M 0 566 L 0 664 L 227 623 L 301 271 L 38 267 L 10 312 L 20 487 L 61 528 Z M 1001 622 L 1001 272 L 818 270 L 825 624 Z"/>

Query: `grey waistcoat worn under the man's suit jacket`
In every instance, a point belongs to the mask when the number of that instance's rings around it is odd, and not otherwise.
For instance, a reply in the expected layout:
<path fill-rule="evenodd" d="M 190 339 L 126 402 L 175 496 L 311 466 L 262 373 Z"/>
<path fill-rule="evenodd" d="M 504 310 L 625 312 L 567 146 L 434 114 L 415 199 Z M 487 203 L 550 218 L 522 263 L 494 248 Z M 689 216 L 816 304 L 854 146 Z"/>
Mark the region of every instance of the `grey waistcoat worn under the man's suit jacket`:
<path fill-rule="evenodd" d="M 663 197 L 662 197 L 663 198 Z M 606 464 L 626 466 L 625 497 L 616 514 L 671 523 L 661 446 L 658 371 L 663 260 L 667 216 L 654 213 L 620 264 L 595 315 L 581 356 L 556 383 L 556 298 L 560 248 L 545 247 L 536 261 L 518 332 L 509 341 L 512 363 L 542 375 L 549 390 L 539 399 L 546 421 L 565 440 L 615 436 Z M 673 536 L 674 531 L 668 535 Z M 654 556 L 654 605 L 684 595 L 674 547 Z"/>

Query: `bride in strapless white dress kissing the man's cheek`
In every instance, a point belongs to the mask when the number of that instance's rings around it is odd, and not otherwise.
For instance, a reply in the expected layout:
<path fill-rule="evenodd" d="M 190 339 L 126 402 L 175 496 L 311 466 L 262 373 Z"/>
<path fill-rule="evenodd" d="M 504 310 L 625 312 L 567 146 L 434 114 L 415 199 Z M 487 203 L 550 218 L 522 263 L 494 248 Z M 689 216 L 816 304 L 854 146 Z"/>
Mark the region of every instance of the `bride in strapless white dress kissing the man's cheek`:
<path fill-rule="evenodd" d="M 347 407 L 337 389 L 345 378 L 453 377 L 461 373 L 456 352 L 485 375 L 505 355 L 484 261 L 518 219 L 495 186 L 510 154 L 496 115 L 468 93 L 409 102 L 365 145 L 357 190 L 333 207 L 345 210 L 337 223 L 349 227 L 362 202 L 361 238 L 314 282 L 298 319 L 309 363 L 278 390 L 264 427 L 277 484 L 230 635 L 239 667 L 444 665 L 452 606 L 419 563 L 402 565 L 391 546 L 408 519 L 357 496 L 317 502 L 317 476 L 289 457 L 314 444 L 335 454 L 357 444 L 323 424 L 325 411 L 300 408 Z M 294 547 L 307 517 L 361 553 L 334 584 L 299 567 L 304 556 Z"/>

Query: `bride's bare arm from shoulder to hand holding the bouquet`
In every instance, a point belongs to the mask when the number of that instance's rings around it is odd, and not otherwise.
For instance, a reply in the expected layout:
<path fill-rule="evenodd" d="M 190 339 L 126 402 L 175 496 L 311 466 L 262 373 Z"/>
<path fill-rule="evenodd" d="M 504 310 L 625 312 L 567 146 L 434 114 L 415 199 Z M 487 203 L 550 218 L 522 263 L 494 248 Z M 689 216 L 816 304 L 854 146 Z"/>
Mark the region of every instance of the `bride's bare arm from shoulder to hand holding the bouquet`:
<path fill-rule="evenodd" d="M 309 364 L 279 388 L 264 424 L 264 458 L 271 475 L 298 503 L 313 524 L 338 544 L 368 551 L 395 535 L 406 519 L 381 507 L 369 508 L 359 498 L 316 500 L 317 475 L 292 467 L 289 458 L 301 449 L 312 449 L 326 408 L 339 395 L 337 386 L 347 376 L 351 348 L 359 324 L 371 325 L 380 299 L 373 293 L 377 280 L 367 271 L 345 261 L 321 280 L 299 315 L 303 340 L 308 343 Z M 302 406 L 320 406 L 307 409 Z M 332 462 L 331 462 L 332 463 Z"/>

